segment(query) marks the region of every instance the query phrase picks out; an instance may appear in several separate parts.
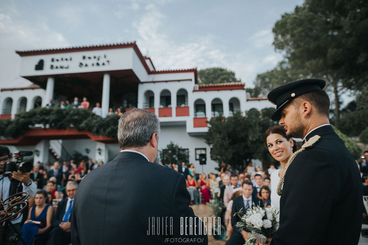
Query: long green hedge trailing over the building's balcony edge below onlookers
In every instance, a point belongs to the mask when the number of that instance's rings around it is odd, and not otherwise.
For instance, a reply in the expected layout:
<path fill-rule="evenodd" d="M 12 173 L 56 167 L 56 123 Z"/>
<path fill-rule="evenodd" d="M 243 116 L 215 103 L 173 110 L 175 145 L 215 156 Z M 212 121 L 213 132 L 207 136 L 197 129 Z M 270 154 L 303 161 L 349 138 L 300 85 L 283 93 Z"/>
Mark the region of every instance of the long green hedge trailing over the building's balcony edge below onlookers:
<path fill-rule="evenodd" d="M 17 138 L 25 133 L 30 125 L 49 125 L 55 129 L 67 129 L 71 125 L 77 130 L 91 131 L 95 135 L 117 138 L 119 116 L 101 118 L 86 109 L 37 108 L 20 112 L 15 120 L 0 119 L 0 136 Z"/>

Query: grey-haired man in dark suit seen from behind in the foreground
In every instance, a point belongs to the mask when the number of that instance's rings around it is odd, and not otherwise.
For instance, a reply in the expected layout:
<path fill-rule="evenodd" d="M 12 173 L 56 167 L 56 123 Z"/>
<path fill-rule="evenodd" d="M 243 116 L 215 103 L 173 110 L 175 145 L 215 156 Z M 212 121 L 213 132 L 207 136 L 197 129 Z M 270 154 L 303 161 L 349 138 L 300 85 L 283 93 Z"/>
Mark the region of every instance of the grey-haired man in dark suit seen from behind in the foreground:
<path fill-rule="evenodd" d="M 184 239 L 208 244 L 204 224 L 189 207 L 184 176 L 153 163 L 159 133 L 157 116 L 147 110 L 135 108 L 121 116 L 121 152 L 87 174 L 75 195 L 73 245 L 179 244 Z"/>

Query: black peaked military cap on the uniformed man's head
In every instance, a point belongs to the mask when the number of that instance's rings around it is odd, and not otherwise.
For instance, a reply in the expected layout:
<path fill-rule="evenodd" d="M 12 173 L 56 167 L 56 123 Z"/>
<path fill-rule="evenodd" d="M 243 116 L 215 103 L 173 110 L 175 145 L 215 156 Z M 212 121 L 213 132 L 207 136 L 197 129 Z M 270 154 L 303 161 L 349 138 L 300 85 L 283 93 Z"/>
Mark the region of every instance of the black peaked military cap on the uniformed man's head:
<path fill-rule="evenodd" d="M 325 85 L 326 81 L 322 79 L 302 79 L 273 89 L 267 95 L 268 101 L 276 105 L 276 111 L 272 114 L 271 119 L 280 120 L 282 107 L 293 98 L 310 91 L 322 90 Z"/>

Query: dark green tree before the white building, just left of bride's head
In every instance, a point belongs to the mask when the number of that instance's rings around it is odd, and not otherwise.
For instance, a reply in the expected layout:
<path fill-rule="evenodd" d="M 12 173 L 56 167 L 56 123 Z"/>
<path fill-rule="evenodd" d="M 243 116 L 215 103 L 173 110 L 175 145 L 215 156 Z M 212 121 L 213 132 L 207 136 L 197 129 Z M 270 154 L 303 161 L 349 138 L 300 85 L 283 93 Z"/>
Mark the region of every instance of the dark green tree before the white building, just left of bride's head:
<path fill-rule="evenodd" d="M 205 135 L 206 144 L 212 147 L 211 159 L 219 166 L 225 162 L 234 170 L 244 170 L 247 161 L 254 158 L 272 161 L 263 135 L 270 126 L 277 124 L 271 120 L 274 111 L 274 108 L 250 109 L 246 116 L 236 113 L 227 118 L 211 119 Z"/>

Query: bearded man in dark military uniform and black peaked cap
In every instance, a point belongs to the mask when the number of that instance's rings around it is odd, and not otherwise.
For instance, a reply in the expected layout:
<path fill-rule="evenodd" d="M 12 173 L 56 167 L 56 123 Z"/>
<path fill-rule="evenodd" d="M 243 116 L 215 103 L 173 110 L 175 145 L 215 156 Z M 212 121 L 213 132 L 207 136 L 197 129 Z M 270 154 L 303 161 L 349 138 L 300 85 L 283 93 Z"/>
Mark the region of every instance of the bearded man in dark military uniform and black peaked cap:
<path fill-rule="evenodd" d="M 284 168 L 280 227 L 270 244 L 358 244 L 362 183 L 353 156 L 329 124 L 330 100 L 321 79 L 284 84 L 268 94 L 272 120 L 302 138 L 300 153 Z M 272 190 L 276 191 L 276 190 Z"/>

